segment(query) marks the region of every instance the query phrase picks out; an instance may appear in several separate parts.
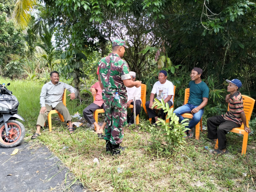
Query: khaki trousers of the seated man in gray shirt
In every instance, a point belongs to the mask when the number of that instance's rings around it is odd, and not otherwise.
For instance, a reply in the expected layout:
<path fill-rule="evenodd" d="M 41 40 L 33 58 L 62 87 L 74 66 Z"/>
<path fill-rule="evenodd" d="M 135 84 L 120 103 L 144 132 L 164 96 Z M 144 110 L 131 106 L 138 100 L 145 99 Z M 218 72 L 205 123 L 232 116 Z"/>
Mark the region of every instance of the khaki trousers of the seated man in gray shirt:
<path fill-rule="evenodd" d="M 63 104 L 63 102 L 60 102 L 56 105 L 55 108 L 52 108 L 51 105 L 45 105 L 46 107 L 46 113 L 44 114 L 39 114 L 38 118 L 37 118 L 37 125 L 40 125 L 41 127 L 44 127 L 45 121 L 47 120 L 47 116 L 48 113 L 50 112 L 50 110 L 57 110 L 61 115 L 63 115 L 64 119 L 66 122 L 71 121 L 72 117 L 69 114 L 68 109 L 66 108 L 66 106 Z"/>

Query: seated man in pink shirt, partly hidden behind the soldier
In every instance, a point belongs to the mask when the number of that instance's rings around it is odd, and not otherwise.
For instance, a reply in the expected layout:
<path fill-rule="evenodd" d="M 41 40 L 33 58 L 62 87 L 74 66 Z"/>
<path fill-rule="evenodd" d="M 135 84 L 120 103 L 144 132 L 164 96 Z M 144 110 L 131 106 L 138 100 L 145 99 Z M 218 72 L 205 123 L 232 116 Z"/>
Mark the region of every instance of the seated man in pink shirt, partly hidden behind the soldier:
<path fill-rule="evenodd" d="M 94 126 L 96 127 L 96 133 L 98 133 L 100 137 L 107 123 L 104 122 L 102 126 L 99 126 L 98 123 L 96 123 L 95 119 L 93 118 L 93 112 L 96 109 L 105 110 L 105 106 L 104 106 L 102 95 L 101 95 L 102 89 L 100 88 L 98 81 L 91 86 L 90 92 L 92 93 L 92 96 L 95 96 L 95 101 L 93 101 L 93 103 L 91 103 L 87 108 L 83 110 L 83 116 L 90 124 L 94 124 Z"/>

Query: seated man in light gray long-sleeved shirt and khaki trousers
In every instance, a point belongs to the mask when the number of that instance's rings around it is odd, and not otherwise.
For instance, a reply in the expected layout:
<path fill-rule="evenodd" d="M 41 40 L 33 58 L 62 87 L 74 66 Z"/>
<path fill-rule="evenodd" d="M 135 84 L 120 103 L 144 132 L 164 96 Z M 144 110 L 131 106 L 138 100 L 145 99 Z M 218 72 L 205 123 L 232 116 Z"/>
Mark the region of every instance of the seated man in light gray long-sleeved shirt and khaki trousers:
<path fill-rule="evenodd" d="M 71 94 L 68 96 L 70 96 L 70 99 L 73 100 L 75 99 L 75 89 L 71 85 L 60 82 L 59 73 L 57 71 L 50 73 L 50 79 L 51 81 L 44 84 L 42 87 L 40 94 L 41 109 L 37 118 L 37 130 L 31 139 L 36 139 L 39 135 L 41 135 L 40 129 L 44 126 L 48 113 L 53 109 L 57 110 L 61 115 L 64 116 L 65 121 L 68 123 L 69 132 L 74 132 L 71 123 L 72 117 L 62 102 L 62 95 L 64 89 L 67 89 L 69 92 L 71 92 Z"/>

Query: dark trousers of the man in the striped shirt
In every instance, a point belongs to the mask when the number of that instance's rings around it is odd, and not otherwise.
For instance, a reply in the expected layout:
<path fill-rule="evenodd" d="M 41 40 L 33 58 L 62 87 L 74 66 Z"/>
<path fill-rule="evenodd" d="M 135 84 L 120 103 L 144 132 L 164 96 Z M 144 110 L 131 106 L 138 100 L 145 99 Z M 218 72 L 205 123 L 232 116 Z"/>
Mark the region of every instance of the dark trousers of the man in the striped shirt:
<path fill-rule="evenodd" d="M 217 126 L 219 128 L 217 129 Z M 234 121 L 228 121 L 223 118 L 223 116 L 213 116 L 207 119 L 207 130 L 209 139 L 218 139 L 218 148 L 226 148 L 226 134 L 233 128 L 240 127 Z"/>

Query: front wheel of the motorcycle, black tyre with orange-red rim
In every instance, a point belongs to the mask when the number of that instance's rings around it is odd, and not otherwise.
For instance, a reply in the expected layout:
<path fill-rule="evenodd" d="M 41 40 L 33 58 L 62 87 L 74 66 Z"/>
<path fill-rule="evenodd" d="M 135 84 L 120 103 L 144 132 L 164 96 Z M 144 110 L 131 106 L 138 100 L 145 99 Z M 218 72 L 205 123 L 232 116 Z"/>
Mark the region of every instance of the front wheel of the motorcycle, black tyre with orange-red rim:
<path fill-rule="evenodd" d="M 24 125 L 16 120 L 7 121 L 9 135 L 6 136 L 4 123 L 0 125 L 0 146 L 12 148 L 21 143 L 25 136 Z"/>

